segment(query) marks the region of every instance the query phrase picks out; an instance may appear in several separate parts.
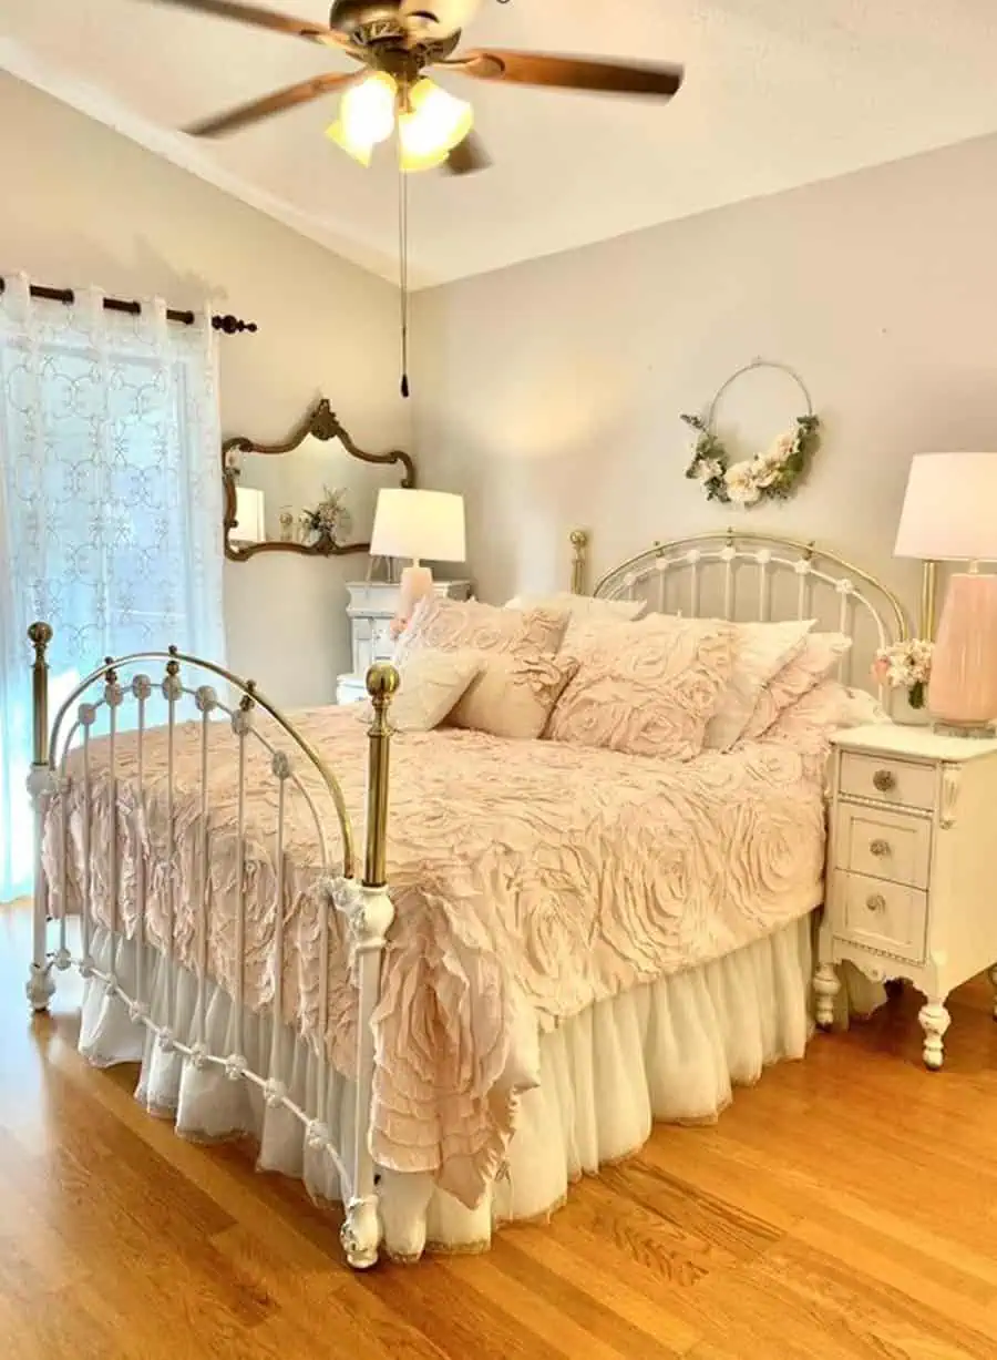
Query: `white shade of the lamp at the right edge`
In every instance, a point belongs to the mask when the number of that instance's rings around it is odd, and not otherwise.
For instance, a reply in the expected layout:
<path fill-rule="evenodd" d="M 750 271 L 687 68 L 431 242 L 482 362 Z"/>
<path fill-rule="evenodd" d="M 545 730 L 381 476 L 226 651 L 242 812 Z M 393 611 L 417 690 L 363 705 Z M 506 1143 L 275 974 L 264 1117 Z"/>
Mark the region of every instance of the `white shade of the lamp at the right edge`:
<path fill-rule="evenodd" d="M 997 562 L 997 453 L 918 453 L 894 551 L 898 558 Z"/>

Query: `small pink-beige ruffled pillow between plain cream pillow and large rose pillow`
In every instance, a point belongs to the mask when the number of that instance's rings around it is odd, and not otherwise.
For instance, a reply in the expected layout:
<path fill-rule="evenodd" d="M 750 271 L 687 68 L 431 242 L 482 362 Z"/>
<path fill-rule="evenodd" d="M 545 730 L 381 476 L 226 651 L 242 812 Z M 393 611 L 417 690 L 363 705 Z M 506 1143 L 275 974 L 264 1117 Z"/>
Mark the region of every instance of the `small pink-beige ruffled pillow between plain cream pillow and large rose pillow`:
<path fill-rule="evenodd" d="M 481 669 L 449 721 L 456 728 L 490 732 L 494 737 L 539 737 L 578 661 L 539 651 L 479 656 Z"/>

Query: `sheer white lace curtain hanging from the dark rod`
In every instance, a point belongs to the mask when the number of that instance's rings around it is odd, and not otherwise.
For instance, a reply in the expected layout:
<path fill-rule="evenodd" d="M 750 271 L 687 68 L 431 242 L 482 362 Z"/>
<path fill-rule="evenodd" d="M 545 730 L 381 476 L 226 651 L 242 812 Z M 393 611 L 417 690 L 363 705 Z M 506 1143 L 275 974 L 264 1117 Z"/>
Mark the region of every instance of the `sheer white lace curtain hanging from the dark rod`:
<path fill-rule="evenodd" d="M 29 624 L 56 703 L 105 656 L 223 660 L 215 332 L 102 302 L 0 295 L 0 900 L 31 879 Z"/>

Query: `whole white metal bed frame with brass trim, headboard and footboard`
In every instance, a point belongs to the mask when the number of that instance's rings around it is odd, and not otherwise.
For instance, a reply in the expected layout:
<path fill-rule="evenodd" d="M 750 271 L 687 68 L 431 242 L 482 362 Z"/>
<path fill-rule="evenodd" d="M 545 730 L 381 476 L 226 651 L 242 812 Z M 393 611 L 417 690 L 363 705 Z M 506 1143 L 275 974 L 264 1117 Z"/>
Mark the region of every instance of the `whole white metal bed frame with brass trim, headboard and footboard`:
<path fill-rule="evenodd" d="M 571 589 L 584 593 L 586 573 L 588 534 L 575 530 L 571 534 L 574 551 L 571 570 Z M 739 575 L 741 567 L 749 568 L 754 577 L 754 598 L 758 617 L 764 620 L 770 616 L 770 586 L 771 578 L 778 571 L 789 571 L 798 581 L 797 611 L 798 617 L 805 617 L 811 611 L 812 592 L 824 588 L 834 592 L 839 598 L 839 622 L 842 631 L 849 631 L 853 612 L 858 608 L 873 620 L 880 645 L 888 645 L 907 635 L 907 622 L 903 607 L 896 596 L 868 573 L 846 563 L 832 552 L 817 551 L 813 544 L 797 540 L 781 539 L 777 536 L 759 533 L 734 533 L 726 530 L 721 533 L 696 534 L 694 537 L 672 540 L 671 543 L 656 543 L 645 552 L 613 567 L 600 578 L 593 590 L 593 596 L 600 598 L 624 598 L 635 596 L 646 586 L 660 592 L 657 604 L 665 600 L 665 578 L 671 571 L 683 568 L 690 573 L 688 585 L 688 613 L 696 615 L 700 601 L 705 573 L 718 570 L 722 575 L 722 598 L 726 617 L 734 617 L 739 605 Z M 654 607 L 654 601 L 652 602 Z M 170 647 L 167 651 L 136 653 L 120 658 L 105 658 L 103 665 L 91 672 L 58 709 L 52 726 L 48 717 L 48 661 L 46 651 L 52 641 L 52 628 L 45 623 L 35 623 L 29 630 L 29 638 L 34 647 L 33 665 L 33 700 L 34 700 L 34 760 L 29 777 L 29 792 L 34 806 L 35 821 L 35 892 L 34 892 L 34 930 L 33 930 L 33 957 L 30 976 L 27 982 L 27 997 L 34 1010 L 48 1009 L 54 993 L 54 972 L 76 967 L 84 978 L 91 979 L 91 985 L 101 985 L 107 996 L 117 997 L 126 1006 L 129 1017 L 135 1023 L 143 1024 L 155 1042 L 165 1051 L 177 1051 L 196 1068 L 212 1065 L 222 1069 L 233 1081 L 248 1081 L 258 1087 L 268 1106 L 287 1108 L 305 1127 L 309 1146 L 322 1149 L 333 1163 L 343 1189 L 344 1224 L 341 1242 L 348 1263 L 358 1269 L 367 1269 L 377 1262 L 378 1248 L 382 1238 L 382 1227 L 378 1212 L 378 1193 L 375 1168 L 370 1153 L 370 1102 L 374 1076 L 374 1035 L 371 1030 L 371 1016 L 377 1006 L 381 986 L 381 960 L 386 937 L 394 919 L 394 908 L 386 881 L 386 827 L 388 827 L 388 792 L 389 792 L 389 758 L 390 758 L 390 699 L 399 685 L 399 675 L 392 666 L 373 666 L 367 673 L 367 690 L 373 702 L 373 721 L 369 729 L 369 772 L 367 772 L 367 828 L 363 858 L 363 877 L 360 883 L 354 879 L 354 839 L 340 785 L 321 755 L 295 730 L 291 722 L 256 688 L 252 680 L 241 680 L 229 670 L 192 657 Z M 201 874 L 207 873 L 209 854 L 208 832 L 208 733 L 215 724 L 212 715 L 224 714 L 229 718 L 233 736 L 237 743 L 238 760 L 238 840 L 237 840 L 237 881 L 238 903 L 235 918 L 235 986 L 234 986 L 234 1013 L 235 1013 L 235 1042 L 229 1053 L 212 1053 L 205 1043 L 205 994 L 211 983 L 208 971 L 208 898 L 201 891 L 200 910 L 197 913 L 197 1000 L 195 1009 L 195 1040 L 181 1042 L 173 1030 L 173 1012 L 175 993 L 180 979 L 180 966 L 175 966 L 171 948 L 165 956 L 167 976 L 167 1009 L 165 1020 L 160 1023 L 150 1009 L 150 994 L 143 975 L 143 951 L 146 938 L 146 883 L 140 873 L 136 887 L 137 896 L 137 925 L 136 925 L 136 975 L 133 991 L 126 989 L 118 972 L 121 933 L 120 923 L 120 847 L 117 843 L 117 819 L 113 819 L 114 845 L 110 853 L 110 899 L 112 899 L 112 929 L 110 929 L 110 966 L 106 970 L 97 967 L 91 952 L 91 936 L 95 925 L 91 902 L 91 815 L 92 789 L 90 743 L 98 717 L 106 714 L 107 722 L 107 767 L 110 782 L 110 805 L 117 806 L 116 783 L 116 740 L 122 730 L 118 719 L 118 710 L 128 700 L 137 704 L 137 786 L 139 798 L 135 817 L 141 816 L 144 806 L 143 797 L 143 740 L 146 734 L 146 703 L 152 695 L 154 681 L 144 672 L 133 675 L 129 684 L 122 684 L 120 675 L 122 670 L 141 665 L 144 662 L 163 662 L 165 673 L 159 681 L 159 690 L 167 704 L 167 847 L 166 854 L 170 862 L 167 873 L 167 919 L 169 934 L 173 942 L 174 921 L 174 891 L 175 891 L 175 853 L 174 843 L 174 736 L 177 704 L 185 696 L 193 699 L 201 714 L 201 782 L 200 782 L 200 811 L 201 811 Z M 222 680 L 235 692 L 234 704 L 224 703 L 209 684 L 189 687 L 182 679 L 182 670 L 201 672 L 211 679 Z M 75 719 L 68 722 L 71 710 L 76 706 Z M 288 749 L 276 747 L 254 726 L 257 710 L 267 713 L 287 737 Z M 83 860 L 83 892 L 80 911 L 80 952 L 73 955 L 67 936 L 65 911 L 57 922 L 49 919 L 49 891 L 50 885 L 45 877 L 42 842 L 46 821 L 50 812 L 56 819 L 56 835 L 61 838 L 65 849 L 69 835 L 68 828 L 68 798 L 65 797 L 71 782 L 67 772 L 67 758 L 75 737 L 82 740 L 82 767 L 83 767 L 83 826 L 82 826 L 82 860 Z M 328 1028 L 328 957 L 329 957 L 329 929 L 331 913 L 343 913 L 348 922 L 348 940 L 351 962 L 358 979 L 358 1059 L 355 1085 L 355 1118 L 351 1121 L 354 1137 L 347 1148 L 337 1148 L 328 1123 L 324 1119 L 326 1084 L 329 1080 L 328 1054 L 325 1043 L 320 1044 L 318 1081 L 313 1108 L 303 1108 L 288 1095 L 280 1081 L 277 1072 L 277 1044 L 282 1016 L 283 993 L 283 940 L 284 940 L 284 913 L 275 914 L 273 932 L 273 976 L 275 996 L 271 1004 L 273 1015 L 272 1040 L 267 1055 L 265 1070 L 254 1070 L 243 1053 L 243 979 L 246 968 L 245 957 L 245 922 L 246 922 L 246 895 L 245 895 L 245 831 L 246 831 L 246 744 L 250 740 L 263 743 L 269 755 L 269 768 L 277 783 L 277 813 L 275 831 L 275 862 L 276 862 L 276 891 L 275 903 L 282 903 L 284 896 L 284 820 L 286 820 L 286 790 L 292 785 L 306 800 L 316 828 L 318 846 L 318 862 L 322 869 L 320 880 L 321 894 L 321 976 L 320 976 L 320 1020 L 318 1034 L 324 1038 Z M 335 823 L 340 832 L 340 853 L 329 843 L 328 836 L 328 806 L 320 808 L 306 790 L 305 785 L 295 774 L 295 763 L 303 760 L 320 775 L 326 802 L 332 808 Z M 325 816 L 324 816 L 325 812 Z M 63 884 L 60 900 L 67 902 L 67 855 L 61 854 Z M 204 881 L 201 889 L 204 889 Z M 54 948 L 50 945 L 49 933 L 57 934 Z"/>

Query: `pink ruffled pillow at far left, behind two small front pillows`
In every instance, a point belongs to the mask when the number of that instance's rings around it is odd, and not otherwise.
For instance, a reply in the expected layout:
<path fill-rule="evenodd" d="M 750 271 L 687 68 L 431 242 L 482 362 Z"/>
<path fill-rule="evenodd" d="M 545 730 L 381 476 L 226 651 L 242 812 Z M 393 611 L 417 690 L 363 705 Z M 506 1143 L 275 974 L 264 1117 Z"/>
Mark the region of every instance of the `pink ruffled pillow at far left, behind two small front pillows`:
<path fill-rule="evenodd" d="M 399 638 L 394 661 L 413 651 L 516 651 L 554 654 L 564 635 L 567 615 L 556 609 L 499 609 L 479 600 L 427 596 L 412 612 Z"/>

